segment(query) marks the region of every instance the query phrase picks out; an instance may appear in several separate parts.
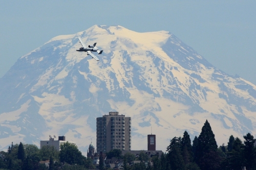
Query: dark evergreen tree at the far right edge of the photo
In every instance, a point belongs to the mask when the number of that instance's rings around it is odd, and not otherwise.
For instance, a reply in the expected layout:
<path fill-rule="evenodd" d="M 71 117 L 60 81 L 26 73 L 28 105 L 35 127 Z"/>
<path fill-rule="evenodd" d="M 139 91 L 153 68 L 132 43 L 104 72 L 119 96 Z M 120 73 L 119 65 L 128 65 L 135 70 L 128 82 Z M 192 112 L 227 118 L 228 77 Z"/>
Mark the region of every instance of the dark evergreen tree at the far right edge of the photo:
<path fill-rule="evenodd" d="M 250 133 L 244 136 L 244 157 L 246 169 L 255 169 L 256 153 L 254 143 L 256 139 Z"/>

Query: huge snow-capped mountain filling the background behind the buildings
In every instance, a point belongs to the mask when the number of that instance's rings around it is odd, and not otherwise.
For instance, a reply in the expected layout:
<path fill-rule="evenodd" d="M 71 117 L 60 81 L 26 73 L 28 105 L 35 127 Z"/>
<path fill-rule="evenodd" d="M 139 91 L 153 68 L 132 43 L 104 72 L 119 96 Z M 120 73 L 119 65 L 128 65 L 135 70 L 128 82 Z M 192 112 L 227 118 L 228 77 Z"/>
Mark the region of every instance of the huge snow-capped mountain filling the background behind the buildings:
<path fill-rule="evenodd" d="M 104 50 L 76 52 L 77 37 Z M 85 153 L 96 142 L 96 117 L 132 117 L 132 150 L 157 150 L 187 130 L 191 140 L 208 119 L 218 144 L 256 134 L 256 86 L 212 66 L 166 31 L 137 33 L 93 26 L 54 37 L 20 57 L 0 79 L 0 149 L 66 136 Z M 96 144 L 96 143 L 95 143 Z"/>

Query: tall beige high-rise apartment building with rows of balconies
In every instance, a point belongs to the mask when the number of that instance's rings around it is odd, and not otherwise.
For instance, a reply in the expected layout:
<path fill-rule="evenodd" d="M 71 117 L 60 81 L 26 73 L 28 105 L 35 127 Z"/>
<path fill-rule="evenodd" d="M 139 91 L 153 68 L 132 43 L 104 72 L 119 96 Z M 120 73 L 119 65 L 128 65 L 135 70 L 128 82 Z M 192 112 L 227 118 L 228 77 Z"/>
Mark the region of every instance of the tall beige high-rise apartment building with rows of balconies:
<path fill-rule="evenodd" d="M 131 139 L 131 117 L 119 115 L 119 112 L 97 117 L 97 153 L 131 150 Z"/>

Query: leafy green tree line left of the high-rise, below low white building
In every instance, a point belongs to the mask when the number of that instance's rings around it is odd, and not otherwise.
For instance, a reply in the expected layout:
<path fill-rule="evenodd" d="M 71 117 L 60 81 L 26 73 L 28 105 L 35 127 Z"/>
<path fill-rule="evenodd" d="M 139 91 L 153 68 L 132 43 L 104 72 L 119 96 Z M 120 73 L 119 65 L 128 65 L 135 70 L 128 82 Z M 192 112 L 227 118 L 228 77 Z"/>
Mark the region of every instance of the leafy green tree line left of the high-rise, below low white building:
<path fill-rule="evenodd" d="M 49 162 L 49 167 L 44 162 Z M 66 164 L 64 164 L 66 163 Z M 86 158 L 73 143 L 60 144 L 60 151 L 53 146 L 45 145 L 38 149 L 34 144 L 13 144 L 7 152 L 0 152 L 0 169 L 10 170 L 53 170 L 58 169 L 92 169 L 94 168 L 91 158 Z"/>

